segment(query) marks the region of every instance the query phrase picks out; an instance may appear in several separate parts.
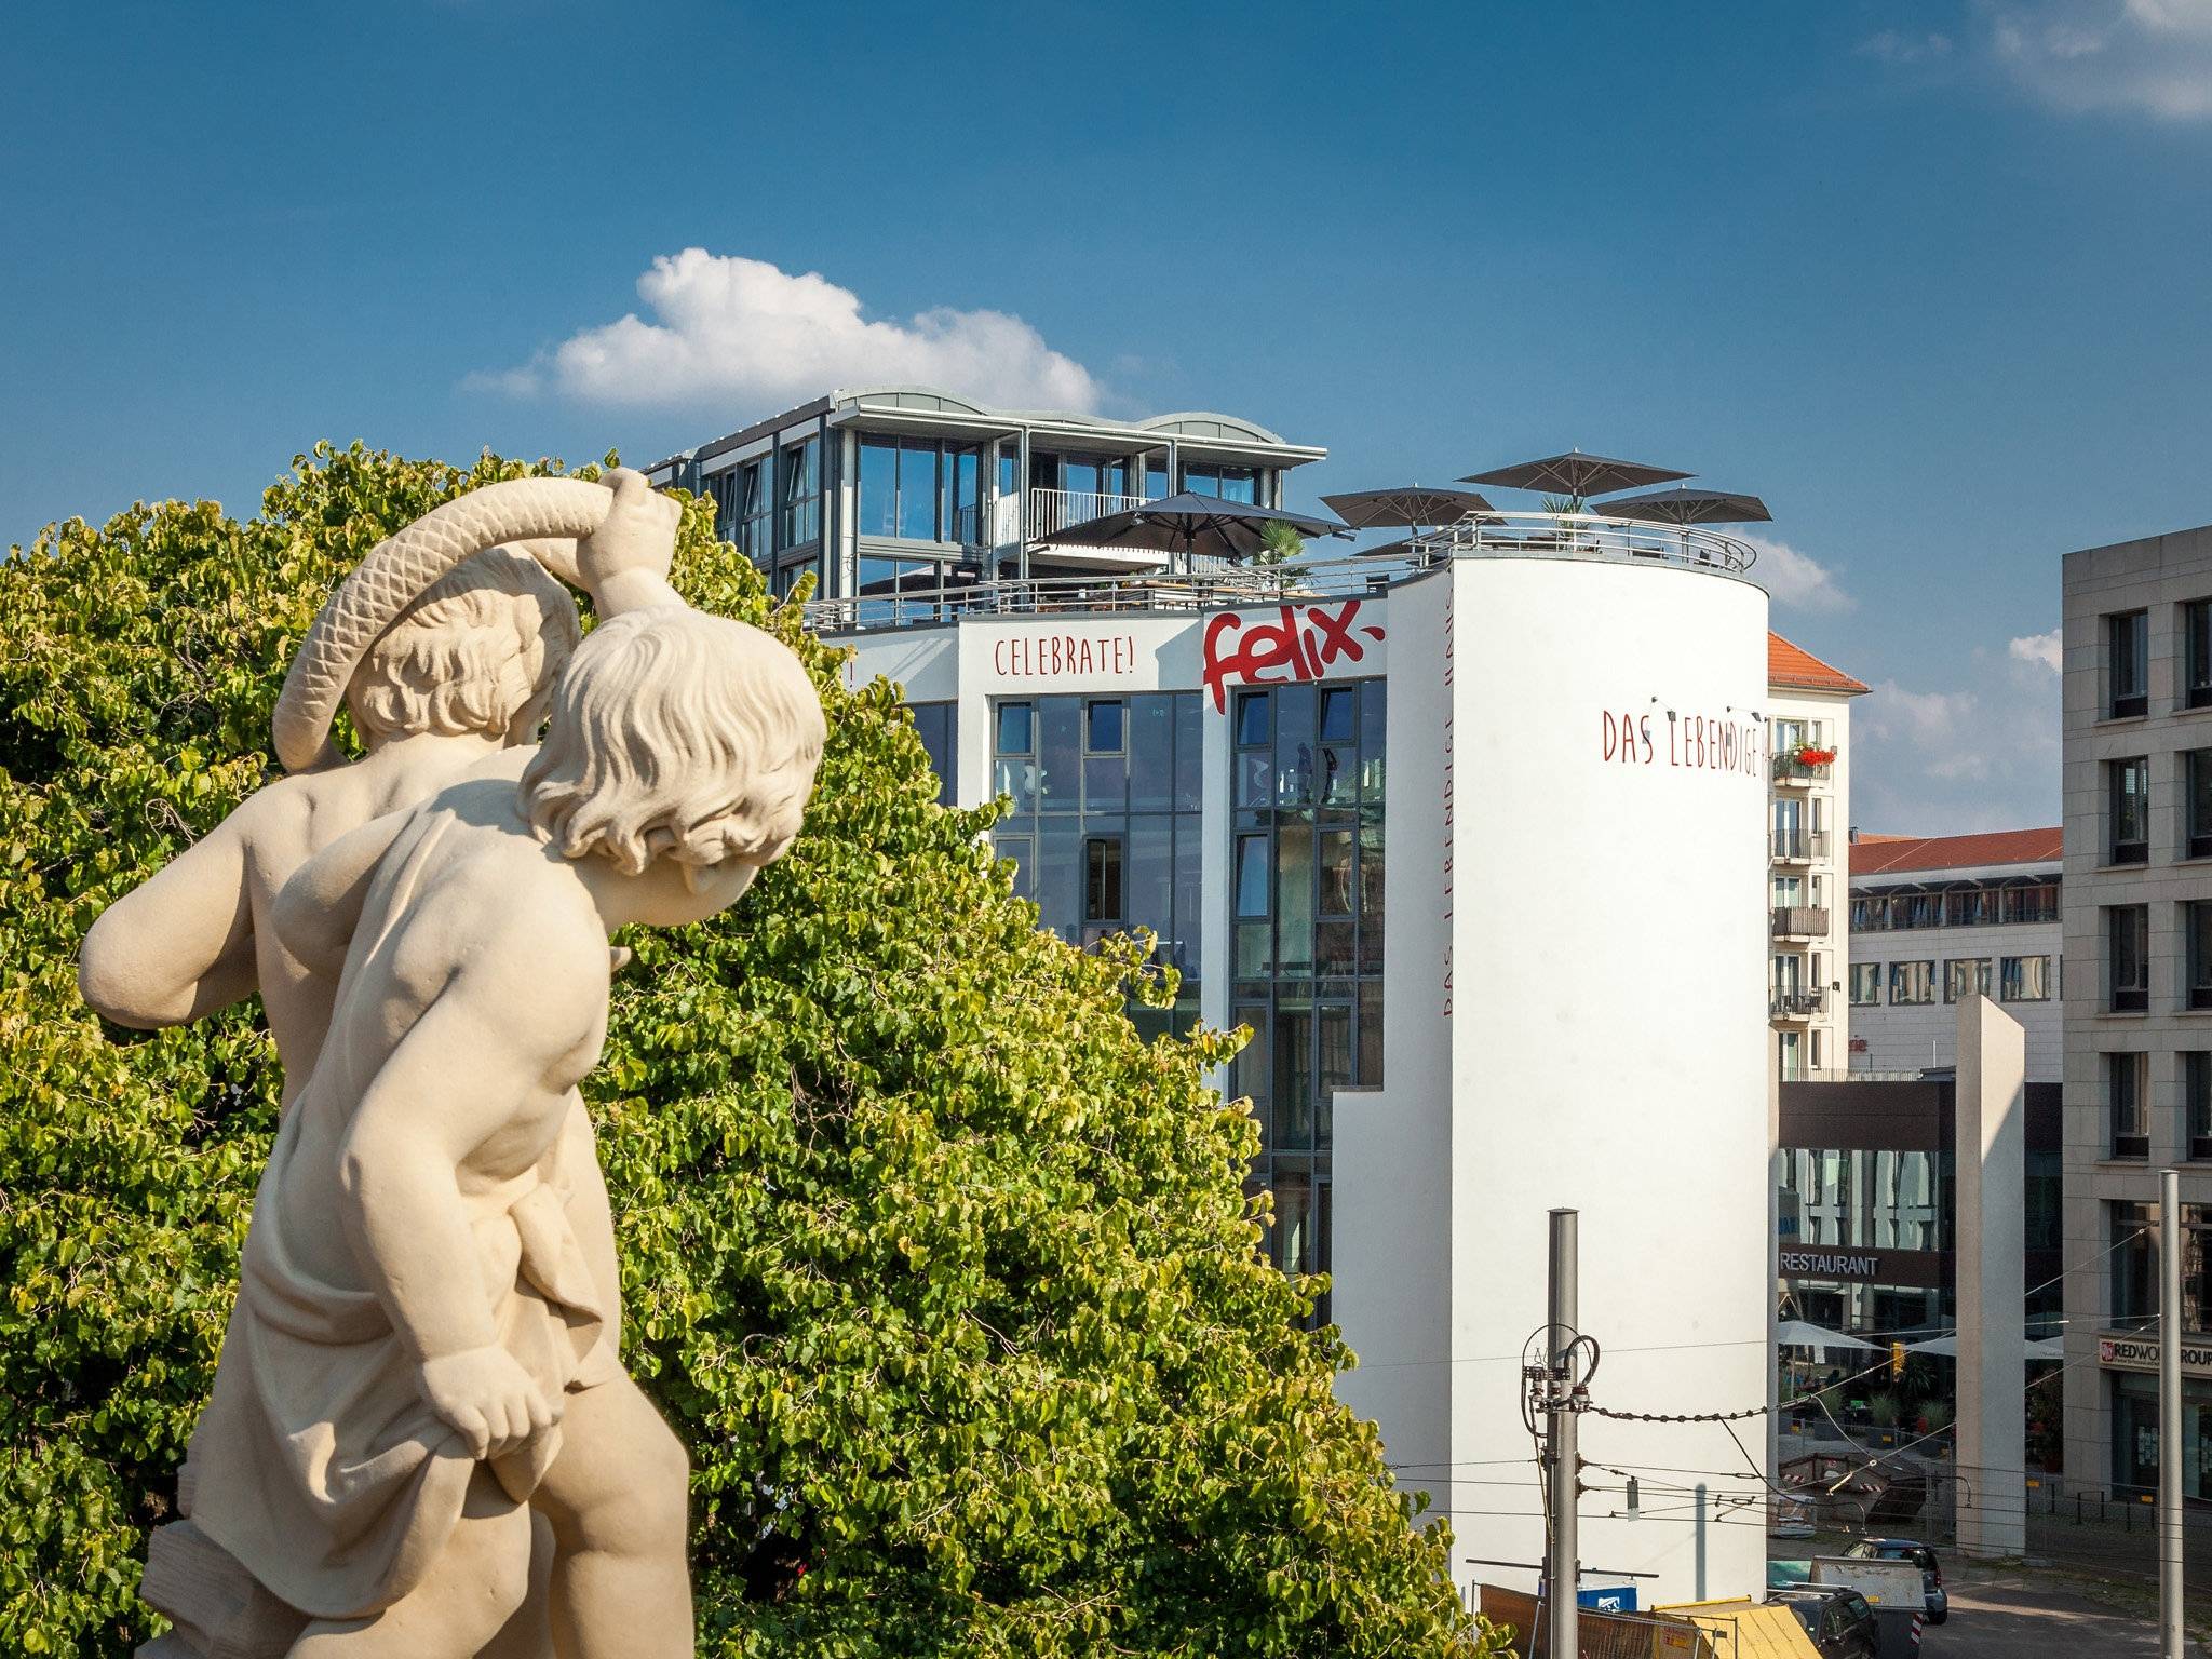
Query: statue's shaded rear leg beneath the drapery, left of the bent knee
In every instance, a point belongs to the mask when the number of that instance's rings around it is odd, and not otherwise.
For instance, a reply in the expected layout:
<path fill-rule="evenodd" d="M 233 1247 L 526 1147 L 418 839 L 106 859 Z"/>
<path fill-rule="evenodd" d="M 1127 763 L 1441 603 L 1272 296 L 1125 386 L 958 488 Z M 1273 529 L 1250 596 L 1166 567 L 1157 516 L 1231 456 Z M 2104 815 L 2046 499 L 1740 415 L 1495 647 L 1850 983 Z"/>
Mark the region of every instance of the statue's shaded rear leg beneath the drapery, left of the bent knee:
<path fill-rule="evenodd" d="M 374 1619 L 316 1619 L 292 1659 L 473 1659 L 531 1588 L 531 1511 L 478 1464 L 425 1579 Z"/>

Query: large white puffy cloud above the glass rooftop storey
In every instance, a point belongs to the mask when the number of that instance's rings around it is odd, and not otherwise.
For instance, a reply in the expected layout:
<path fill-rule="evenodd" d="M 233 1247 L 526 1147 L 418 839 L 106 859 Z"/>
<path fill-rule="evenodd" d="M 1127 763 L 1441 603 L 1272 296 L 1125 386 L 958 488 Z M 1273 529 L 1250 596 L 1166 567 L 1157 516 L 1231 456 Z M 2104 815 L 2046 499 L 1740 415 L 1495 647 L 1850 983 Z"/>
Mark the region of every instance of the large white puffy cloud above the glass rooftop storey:
<path fill-rule="evenodd" d="M 526 365 L 471 374 L 478 392 L 555 389 L 584 403 L 776 409 L 836 385 L 927 383 L 984 403 L 1093 409 L 1091 372 L 1020 316 L 936 307 L 869 321 L 818 272 L 686 248 L 637 279 L 637 312 L 584 327 Z"/>

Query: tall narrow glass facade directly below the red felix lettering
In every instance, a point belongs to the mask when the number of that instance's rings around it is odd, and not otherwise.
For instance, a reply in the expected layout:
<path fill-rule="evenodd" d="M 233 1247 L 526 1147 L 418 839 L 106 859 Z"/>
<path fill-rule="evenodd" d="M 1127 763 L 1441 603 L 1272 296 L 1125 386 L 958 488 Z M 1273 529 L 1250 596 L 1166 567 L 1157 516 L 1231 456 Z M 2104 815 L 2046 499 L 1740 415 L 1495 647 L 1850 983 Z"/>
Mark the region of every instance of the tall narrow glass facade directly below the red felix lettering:
<path fill-rule="evenodd" d="M 1230 1088 L 1276 1263 L 1327 1272 L 1329 1099 L 1383 1084 L 1383 681 L 1241 690 L 1230 719 L 1230 1018 L 1254 1033 Z"/>

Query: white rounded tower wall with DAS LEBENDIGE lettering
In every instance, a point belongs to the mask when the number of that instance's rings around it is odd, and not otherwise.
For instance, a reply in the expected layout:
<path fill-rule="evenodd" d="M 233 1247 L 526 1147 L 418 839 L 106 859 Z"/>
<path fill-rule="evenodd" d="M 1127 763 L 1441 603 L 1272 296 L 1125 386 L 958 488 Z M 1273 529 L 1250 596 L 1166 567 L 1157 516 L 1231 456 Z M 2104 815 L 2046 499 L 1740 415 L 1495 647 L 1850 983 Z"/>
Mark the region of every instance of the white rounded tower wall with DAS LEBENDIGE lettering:
<path fill-rule="evenodd" d="M 1385 1088 L 1338 1106 L 1343 1394 L 1449 1513 L 1455 1575 L 1528 1588 L 1467 1557 L 1542 1559 L 1517 1358 L 1546 1210 L 1582 1212 L 1595 1405 L 1767 1398 L 1767 597 L 1694 560 L 1484 551 L 1396 588 L 1391 624 L 1391 1002 Z M 1736 1436 L 1586 1416 L 1584 1584 L 1759 1593 L 1765 1425 Z"/>

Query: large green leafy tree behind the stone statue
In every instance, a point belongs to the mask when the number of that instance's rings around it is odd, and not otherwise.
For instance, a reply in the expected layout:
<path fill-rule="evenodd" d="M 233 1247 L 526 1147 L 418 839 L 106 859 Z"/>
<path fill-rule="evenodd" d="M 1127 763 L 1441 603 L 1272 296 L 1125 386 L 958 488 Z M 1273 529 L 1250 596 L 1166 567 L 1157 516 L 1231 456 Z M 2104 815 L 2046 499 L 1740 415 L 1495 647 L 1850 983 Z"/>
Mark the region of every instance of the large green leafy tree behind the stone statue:
<path fill-rule="evenodd" d="M 372 542 L 529 471 L 319 447 L 0 571 L 0 1650 L 122 1655 L 276 1117 L 259 1009 L 148 1037 L 84 929 L 265 779 L 270 706 Z M 692 502 L 677 580 L 807 659 L 807 832 L 737 914 L 628 940 L 588 1095 L 626 1358 L 695 1460 L 730 1655 L 1475 1655 L 1318 1281 L 1259 1259 L 1232 1037 L 1144 1042 L 1144 942 L 1035 927 L 885 684 L 772 608 Z"/>

